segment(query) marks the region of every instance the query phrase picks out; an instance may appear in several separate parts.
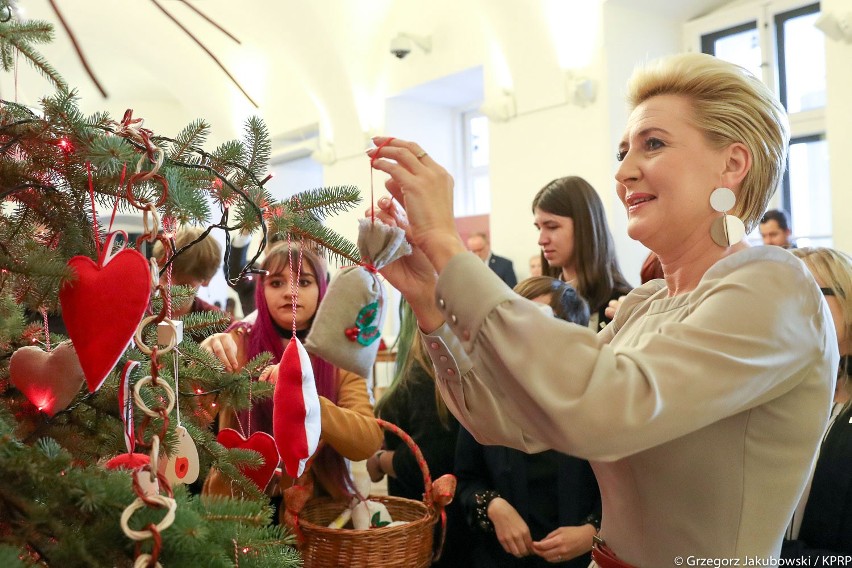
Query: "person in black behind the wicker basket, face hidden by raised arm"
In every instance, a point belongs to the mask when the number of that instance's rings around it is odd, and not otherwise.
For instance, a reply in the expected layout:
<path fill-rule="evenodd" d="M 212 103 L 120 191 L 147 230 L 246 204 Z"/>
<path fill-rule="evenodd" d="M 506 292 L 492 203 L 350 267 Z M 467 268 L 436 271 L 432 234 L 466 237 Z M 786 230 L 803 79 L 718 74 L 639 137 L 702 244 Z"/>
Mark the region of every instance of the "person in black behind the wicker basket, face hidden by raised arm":
<path fill-rule="evenodd" d="M 376 404 L 376 416 L 402 428 L 412 437 L 429 466 L 432 479 L 453 473 L 459 423 L 435 388 L 432 362 L 423 352 L 417 320 L 402 301 L 397 362 L 391 386 Z M 388 494 L 423 500 L 423 474 L 408 446 L 385 432 L 384 446 L 367 460 L 373 482 L 387 476 Z M 470 562 L 469 532 L 458 499 L 446 508 L 447 536 L 443 553 L 433 566 L 456 568 Z M 440 521 L 439 521 L 440 526 Z M 436 532 L 436 538 L 440 531 Z"/>

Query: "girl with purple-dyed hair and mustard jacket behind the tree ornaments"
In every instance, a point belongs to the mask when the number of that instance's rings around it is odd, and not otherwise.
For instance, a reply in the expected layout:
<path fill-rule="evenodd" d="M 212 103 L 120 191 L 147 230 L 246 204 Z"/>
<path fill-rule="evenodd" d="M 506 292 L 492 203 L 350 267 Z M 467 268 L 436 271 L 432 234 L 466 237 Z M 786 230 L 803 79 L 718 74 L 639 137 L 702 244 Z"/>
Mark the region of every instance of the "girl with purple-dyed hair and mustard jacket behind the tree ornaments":
<path fill-rule="evenodd" d="M 291 267 L 291 259 L 294 265 Z M 298 263 L 298 264 L 297 264 Z M 228 371 L 241 369 L 246 362 L 263 352 L 272 353 L 275 361 L 284 354 L 292 336 L 295 318 L 296 336 L 304 341 L 313 323 L 319 303 L 328 284 L 319 257 L 297 245 L 279 243 L 266 253 L 261 265 L 266 271 L 255 289 L 257 317 L 252 323 L 238 322 L 225 333 L 208 337 L 201 346 L 215 354 Z M 298 274 L 298 282 L 292 282 Z M 298 288 L 297 292 L 294 290 Z M 318 494 L 341 497 L 352 492 L 345 459 L 367 459 L 382 442 L 382 432 L 375 418 L 366 381 L 353 373 L 336 369 L 329 362 L 311 356 L 319 394 L 322 432 L 318 455 L 309 470 Z M 264 373 L 264 377 L 268 374 Z M 226 409 L 219 414 L 220 428 L 272 433 L 272 399 L 253 403 L 251 411 L 234 413 Z M 282 474 L 273 494 L 283 492 L 293 480 Z M 233 493 L 230 480 L 212 471 L 204 493 Z"/>

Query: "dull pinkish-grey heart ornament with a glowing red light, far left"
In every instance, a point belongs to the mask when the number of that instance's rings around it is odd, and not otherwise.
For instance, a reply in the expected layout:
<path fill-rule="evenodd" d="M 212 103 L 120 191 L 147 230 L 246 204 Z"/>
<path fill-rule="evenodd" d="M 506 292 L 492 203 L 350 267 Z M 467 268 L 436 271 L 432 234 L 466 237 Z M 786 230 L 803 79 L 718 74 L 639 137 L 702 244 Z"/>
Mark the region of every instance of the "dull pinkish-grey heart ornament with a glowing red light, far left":
<path fill-rule="evenodd" d="M 53 351 L 21 347 L 12 353 L 9 376 L 15 388 L 49 416 L 67 408 L 85 380 L 70 341 Z"/>

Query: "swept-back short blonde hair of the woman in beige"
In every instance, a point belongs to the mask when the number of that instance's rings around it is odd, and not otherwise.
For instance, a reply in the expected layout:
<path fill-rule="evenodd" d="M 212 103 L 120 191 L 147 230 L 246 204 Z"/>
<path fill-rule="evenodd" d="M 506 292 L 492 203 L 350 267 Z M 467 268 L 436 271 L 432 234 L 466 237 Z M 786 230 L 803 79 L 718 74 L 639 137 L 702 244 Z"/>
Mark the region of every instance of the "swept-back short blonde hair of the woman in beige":
<path fill-rule="evenodd" d="M 777 97 L 744 68 L 703 53 L 665 57 L 634 72 L 627 85 L 631 110 L 657 95 L 692 102 L 692 123 L 717 148 L 741 142 L 752 166 L 732 213 L 751 232 L 781 183 L 790 126 Z"/>

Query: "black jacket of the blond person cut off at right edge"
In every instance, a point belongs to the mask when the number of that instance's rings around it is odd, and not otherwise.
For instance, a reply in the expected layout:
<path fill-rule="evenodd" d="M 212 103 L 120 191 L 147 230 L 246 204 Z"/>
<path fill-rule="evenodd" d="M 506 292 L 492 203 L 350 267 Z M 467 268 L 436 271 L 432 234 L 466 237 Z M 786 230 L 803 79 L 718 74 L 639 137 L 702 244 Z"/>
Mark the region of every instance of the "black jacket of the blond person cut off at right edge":
<path fill-rule="evenodd" d="M 820 449 L 798 540 L 782 558 L 852 554 L 852 405 L 835 418 Z"/>

